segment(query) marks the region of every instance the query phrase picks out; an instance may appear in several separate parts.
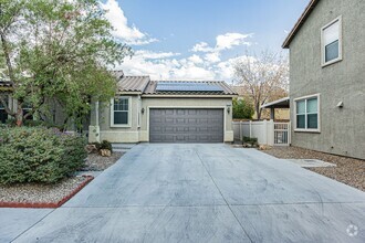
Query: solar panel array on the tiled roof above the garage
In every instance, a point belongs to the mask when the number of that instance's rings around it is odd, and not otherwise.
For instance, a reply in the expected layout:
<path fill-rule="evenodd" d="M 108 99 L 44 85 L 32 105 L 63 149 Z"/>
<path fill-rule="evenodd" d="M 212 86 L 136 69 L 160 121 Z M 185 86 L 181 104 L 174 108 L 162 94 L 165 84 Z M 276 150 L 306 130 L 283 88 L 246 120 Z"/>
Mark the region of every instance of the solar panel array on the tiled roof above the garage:
<path fill-rule="evenodd" d="M 216 84 L 200 82 L 158 82 L 157 92 L 223 92 Z"/>

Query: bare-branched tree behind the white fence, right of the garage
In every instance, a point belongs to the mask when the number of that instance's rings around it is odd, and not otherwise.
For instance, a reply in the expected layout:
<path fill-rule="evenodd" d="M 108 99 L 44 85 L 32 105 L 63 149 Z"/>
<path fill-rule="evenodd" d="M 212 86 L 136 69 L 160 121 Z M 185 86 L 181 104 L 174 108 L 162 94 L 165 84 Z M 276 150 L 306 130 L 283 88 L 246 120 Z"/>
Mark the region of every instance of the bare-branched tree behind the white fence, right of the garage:
<path fill-rule="evenodd" d="M 248 91 L 258 119 L 261 118 L 261 106 L 288 89 L 288 59 L 281 54 L 268 51 L 261 57 L 246 54 L 238 59 L 233 70 L 234 81 Z"/>

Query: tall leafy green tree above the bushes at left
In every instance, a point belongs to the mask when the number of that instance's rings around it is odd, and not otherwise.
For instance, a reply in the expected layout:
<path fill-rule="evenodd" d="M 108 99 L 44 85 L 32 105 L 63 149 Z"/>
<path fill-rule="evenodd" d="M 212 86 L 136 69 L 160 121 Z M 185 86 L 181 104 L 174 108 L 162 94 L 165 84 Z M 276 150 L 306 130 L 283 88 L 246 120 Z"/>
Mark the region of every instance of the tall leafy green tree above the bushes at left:
<path fill-rule="evenodd" d="M 132 51 L 112 36 L 97 0 L 0 0 L 0 57 L 18 102 L 17 110 L 6 110 L 19 126 L 25 103 L 32 107 L 25 116 L 46 115 L 54 101 L 79 120 L 91 97 L 114 96 L 116 78 L 107 70 Z M 3 95 L 0 102 L 7 105 Z"/>

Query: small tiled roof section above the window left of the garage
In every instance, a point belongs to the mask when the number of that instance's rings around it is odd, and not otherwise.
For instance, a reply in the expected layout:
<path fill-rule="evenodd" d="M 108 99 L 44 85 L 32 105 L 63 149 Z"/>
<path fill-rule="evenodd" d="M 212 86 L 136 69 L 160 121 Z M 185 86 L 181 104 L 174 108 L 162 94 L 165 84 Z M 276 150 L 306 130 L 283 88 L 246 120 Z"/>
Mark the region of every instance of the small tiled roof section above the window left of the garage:
<path fill-rule="evenodd" d="M 118 92 L 143 93 L 149 81 L 149 76 L 122 76 L 117 83 L 117 88 Z"/>

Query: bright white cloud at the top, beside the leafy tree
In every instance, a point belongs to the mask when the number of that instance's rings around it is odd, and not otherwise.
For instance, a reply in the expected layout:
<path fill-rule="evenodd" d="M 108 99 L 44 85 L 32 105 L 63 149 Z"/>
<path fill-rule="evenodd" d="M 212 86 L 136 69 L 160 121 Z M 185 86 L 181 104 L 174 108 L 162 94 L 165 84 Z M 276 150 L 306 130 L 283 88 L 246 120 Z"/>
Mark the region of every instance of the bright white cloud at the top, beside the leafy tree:
<path fill-rule="evenodd" d="M 115 38 L 129 45 L 145 45 L 158 41 L 149 38 L 147 33 L 142 32 L 135 25 L 129 27 L 128 20 L 116 0 L 107 0 L 105 3 L 101 2 L 101 6 L 106 10 L 105 17 L 114 28 L 113 35 Z"/>

